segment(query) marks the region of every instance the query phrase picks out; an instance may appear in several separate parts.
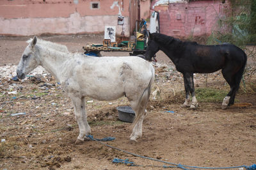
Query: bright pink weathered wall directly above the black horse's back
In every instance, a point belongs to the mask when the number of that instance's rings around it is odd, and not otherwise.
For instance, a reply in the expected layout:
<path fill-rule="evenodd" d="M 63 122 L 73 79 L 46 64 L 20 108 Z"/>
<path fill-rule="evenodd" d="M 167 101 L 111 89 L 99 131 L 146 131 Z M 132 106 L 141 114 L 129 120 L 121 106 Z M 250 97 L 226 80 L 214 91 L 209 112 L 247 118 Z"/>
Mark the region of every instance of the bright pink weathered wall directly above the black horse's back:
<path fill-rule="evenodd" d="M 179 38 L 211 35 L 217 29 L 217 21 L 227 9 L 221 1 L 192 1 L 156 6 L 159 12 L 160 33 Z"/>

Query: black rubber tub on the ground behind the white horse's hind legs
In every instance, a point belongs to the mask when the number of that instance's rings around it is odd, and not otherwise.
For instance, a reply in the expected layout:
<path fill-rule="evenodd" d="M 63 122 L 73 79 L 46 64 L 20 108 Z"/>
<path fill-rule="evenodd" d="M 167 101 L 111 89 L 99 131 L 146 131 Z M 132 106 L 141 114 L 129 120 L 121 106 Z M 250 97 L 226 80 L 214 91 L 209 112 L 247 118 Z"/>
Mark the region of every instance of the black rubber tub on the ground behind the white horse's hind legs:
<path fill-rule="evenodd" d="M 129 106 L 116 107 L 119 120 L 132 123 L 135 119 L 135 112 Z"/>

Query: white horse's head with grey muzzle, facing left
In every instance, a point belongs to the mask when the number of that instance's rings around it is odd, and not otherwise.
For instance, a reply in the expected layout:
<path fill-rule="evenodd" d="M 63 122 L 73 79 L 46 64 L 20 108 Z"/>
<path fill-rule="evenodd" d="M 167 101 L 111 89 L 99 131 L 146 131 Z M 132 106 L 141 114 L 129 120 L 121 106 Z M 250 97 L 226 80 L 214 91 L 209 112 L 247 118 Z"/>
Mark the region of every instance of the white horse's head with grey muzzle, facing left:
<path fill-rule="evenodd" d="M 36 40 L 36 36 L 34 36 L 33 40 L 29 40 L 29 45 L 26 47 L 22 54 L 16 71 L 19 79 L 24 79 L 27 73 L 31 72 L 36 68 L 36 66 L 39 65 L 39 61 L 36 58 Z"/>

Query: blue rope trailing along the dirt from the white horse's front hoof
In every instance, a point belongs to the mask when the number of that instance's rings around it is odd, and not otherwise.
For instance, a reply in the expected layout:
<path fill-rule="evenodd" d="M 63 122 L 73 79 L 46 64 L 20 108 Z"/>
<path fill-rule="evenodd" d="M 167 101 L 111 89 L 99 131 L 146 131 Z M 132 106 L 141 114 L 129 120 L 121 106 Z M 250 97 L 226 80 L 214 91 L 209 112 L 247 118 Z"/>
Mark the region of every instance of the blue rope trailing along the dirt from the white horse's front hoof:
<path fill-rule="evenodd" d="M 189 167 L 189 168 L 198 168 L 198 169 L 234 169 L 234 168 L 239 168 L 239 167 L 244 167 L 245 169 L 247 170 L 256 170 L 256 164 L 253 164 L 252 166 L 232 166 L 232 167 L 200 167 L 200 166 L 185 166 L 185 165 L 182 165 L 182 164 L 174 164 L 172 162 L 166 162 L 164 160 L 159 160 L 159 159 L 156 159 L 156 158 L 150 158 L 150 157 L 144 157 L 144 156 L 141 156 L 141 155 L 137 155 L 135 153 L 131 153 L 129 151 L 125 151 L 125 150 L 121 150 L 119 148 L 116 148 L 114 146 L 110 146 L 109 144 L 105 144 L 105 143 L 102 143 L 100 142 L 99 140 L 93 138 L 92 135 L 86 135 L 86 137 L 89 137 L 92 141 L 96 141 L 97 143 L 100 143 L 100 144 L 103 144 L 105 146 L 108 146 L 109 148 L 113 148 L 115 150 L 118 150 L 118 151 L 122 151 L 124 153 L 128 153 L 130 155 L 133 155 L 134 157 L 140 157 L 140 158 L 147 158 L 149 160 L 154 160 L 154 161 L 157 161 L 157 162 L 162 162 L 162 163 L 165 163 L 165 164 L 171 164 L 173 166 L 163 166 L 165 168 L 168 168 L 168 167 L 179 167 L 180 169 L 184 169 L 184 170 L 188 170 L 186 169 L 185 167 Z M 105 137 L 105 138 L 108 138 L 108 137 Z M 115 137 L 112 137 L 112 138 L 115 138 Z M 104 139 L 104 138 L 103 138 Z M 127 160 L 127 159 L 125 159 Z M 121 162 L 118 162 L 118 163 L 122 163 L 122 160 L 120 160 Z M 127 160 L 128 161 L 128 160 Z M 134 163 L 134 162 L 133 162 Z M 133 166 L 138 166 L 138 165 L 135 165 L 135 164 L 132 164 Z"/>

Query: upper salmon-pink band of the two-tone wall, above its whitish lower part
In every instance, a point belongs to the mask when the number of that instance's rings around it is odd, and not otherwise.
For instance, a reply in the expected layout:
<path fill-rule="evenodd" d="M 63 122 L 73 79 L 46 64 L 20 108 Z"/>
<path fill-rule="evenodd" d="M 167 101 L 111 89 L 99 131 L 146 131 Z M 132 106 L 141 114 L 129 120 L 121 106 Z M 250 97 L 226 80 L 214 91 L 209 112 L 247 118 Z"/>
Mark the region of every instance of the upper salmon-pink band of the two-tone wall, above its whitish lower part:
<path fill-rule="evenodd" d="M 117 15 L 118 7 L 110 8 L 114 1 L 79 0 L 76 4 L 74 0 L 1 0 L 0 13 L 4 19 L 69 17 L 74 12 L 79 13 L 81 17 Z M 92 2 L 99 2 L 99 10 L 90 8 Z M 122 0 L 118 2 L 122 15 L 129 17 L 129 0 L 124 0 L 124 10 L 122 10 Z"/>

